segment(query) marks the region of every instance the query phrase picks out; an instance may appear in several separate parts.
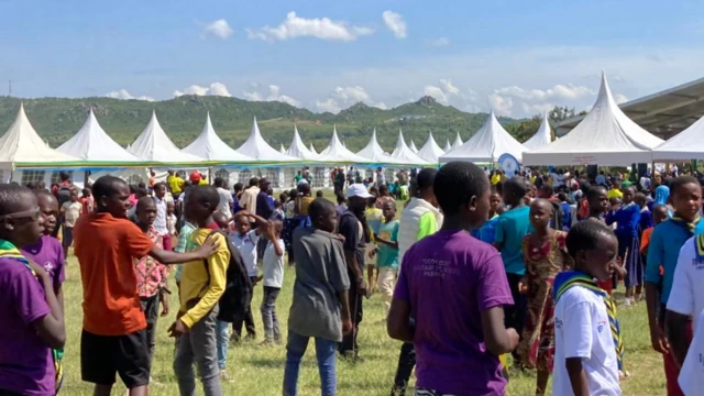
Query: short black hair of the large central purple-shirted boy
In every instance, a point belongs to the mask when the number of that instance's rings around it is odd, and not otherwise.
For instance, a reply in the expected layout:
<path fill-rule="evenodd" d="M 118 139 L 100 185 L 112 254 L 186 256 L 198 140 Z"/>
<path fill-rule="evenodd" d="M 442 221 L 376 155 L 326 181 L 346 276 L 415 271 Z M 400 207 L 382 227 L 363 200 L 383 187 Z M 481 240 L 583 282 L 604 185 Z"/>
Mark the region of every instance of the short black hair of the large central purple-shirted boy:
<path fill-rule="evenodd" d="M 460 206 L 472 197 L 481 197 L 488 188 L 488 178 L 479 166 L 463 161 L 444 164 L 432 184 L 440 208 L 446 215 L 455 215 Z"/>

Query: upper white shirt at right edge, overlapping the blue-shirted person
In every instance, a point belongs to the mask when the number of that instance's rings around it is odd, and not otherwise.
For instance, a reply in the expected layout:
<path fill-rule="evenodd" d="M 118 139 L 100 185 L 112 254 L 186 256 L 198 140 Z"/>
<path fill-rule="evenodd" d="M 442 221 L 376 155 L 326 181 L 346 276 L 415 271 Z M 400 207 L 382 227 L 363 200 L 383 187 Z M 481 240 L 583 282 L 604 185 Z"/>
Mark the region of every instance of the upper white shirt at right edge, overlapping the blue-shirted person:
<path fill-rule="evenodd" d="M 700 312 L 704 310 L 704 261 L 696 260 L 694 241 L 695 238 L 690 238 L 680 249 L 668 309 L 694 318 L 696 331 Z"/>

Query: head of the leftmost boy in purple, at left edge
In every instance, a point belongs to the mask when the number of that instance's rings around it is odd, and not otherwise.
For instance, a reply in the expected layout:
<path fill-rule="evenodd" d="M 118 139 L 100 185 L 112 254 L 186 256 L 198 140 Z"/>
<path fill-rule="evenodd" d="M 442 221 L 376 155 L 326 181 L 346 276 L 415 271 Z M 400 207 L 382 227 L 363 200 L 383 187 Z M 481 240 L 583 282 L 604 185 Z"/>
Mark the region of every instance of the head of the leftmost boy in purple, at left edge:
<path fill-rule="evenodd" d="M 44 232 L 44 217 L 31 189 L 0 185 L 0 239 L 18 248 L 36 243 Z"/>

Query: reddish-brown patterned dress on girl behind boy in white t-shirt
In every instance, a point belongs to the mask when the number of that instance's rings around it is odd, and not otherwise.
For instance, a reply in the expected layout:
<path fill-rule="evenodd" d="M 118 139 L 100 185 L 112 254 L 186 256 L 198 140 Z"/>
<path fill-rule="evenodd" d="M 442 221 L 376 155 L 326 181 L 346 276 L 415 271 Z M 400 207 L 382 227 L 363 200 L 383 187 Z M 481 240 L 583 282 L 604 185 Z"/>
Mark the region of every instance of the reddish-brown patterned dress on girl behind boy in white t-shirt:
<path fill-rule="evenodd" d="M 530 234 L 522 242 L 528 278 L 528 315 L 518 354 L 528 369 L 552 372 L 554 361 L 554 276 L 572 265 L 566 253 L 566 232 L 554 231 L 542 246 L 532 246 Z"/>

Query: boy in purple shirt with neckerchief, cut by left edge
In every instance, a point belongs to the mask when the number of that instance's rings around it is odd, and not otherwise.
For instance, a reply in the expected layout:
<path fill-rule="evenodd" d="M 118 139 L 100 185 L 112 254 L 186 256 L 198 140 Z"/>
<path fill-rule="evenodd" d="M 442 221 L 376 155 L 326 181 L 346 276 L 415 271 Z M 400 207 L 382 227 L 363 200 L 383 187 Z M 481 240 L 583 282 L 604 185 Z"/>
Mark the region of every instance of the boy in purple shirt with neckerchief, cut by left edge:
<path fill-rule="evenodd" d="M 0 185 L 0 394 L 54 396 L 52 349 L 66 342 L 64 316 L 46 271 L 18 250 L 44 231 L 32 190 Z"/>

